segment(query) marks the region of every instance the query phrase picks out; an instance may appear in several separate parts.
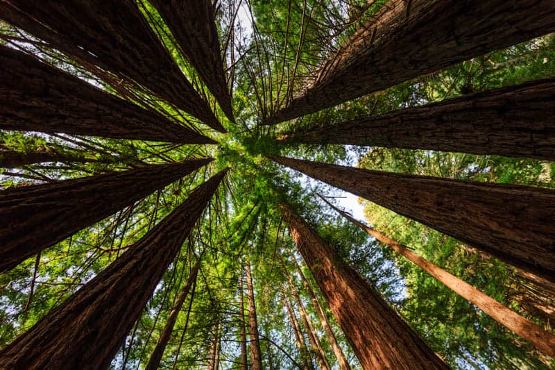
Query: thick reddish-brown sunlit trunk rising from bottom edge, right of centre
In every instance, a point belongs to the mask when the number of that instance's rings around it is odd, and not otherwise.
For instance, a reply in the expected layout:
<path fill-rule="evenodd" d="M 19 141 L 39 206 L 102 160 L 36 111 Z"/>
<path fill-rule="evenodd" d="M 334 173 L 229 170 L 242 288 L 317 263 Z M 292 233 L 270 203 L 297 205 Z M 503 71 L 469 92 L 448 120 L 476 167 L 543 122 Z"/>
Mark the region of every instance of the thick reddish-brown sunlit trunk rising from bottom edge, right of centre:
<path fill-rule="evenodd" d="M 364 369 L 447 369 L 357 271 L 282 205 L 291 237 Z"/>

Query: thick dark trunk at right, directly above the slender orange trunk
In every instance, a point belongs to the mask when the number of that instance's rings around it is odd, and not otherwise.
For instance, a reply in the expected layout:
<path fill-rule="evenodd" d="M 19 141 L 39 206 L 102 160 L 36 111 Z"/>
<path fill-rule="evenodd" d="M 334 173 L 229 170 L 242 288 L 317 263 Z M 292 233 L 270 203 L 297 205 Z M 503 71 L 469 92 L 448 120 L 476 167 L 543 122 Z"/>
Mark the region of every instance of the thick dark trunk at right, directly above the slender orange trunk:
<path fill-rule="evenodd" d="M 553 190 L 271 158 L 555 281 Z"/>

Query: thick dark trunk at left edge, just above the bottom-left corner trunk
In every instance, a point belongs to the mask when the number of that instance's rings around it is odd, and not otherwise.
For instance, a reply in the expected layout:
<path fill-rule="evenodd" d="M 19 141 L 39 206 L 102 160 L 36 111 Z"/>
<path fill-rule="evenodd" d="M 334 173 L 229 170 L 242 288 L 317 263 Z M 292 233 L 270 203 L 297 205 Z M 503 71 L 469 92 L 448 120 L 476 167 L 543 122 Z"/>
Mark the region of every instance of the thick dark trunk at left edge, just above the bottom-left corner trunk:
<path fill-rule="evenodd" d="M 0 192 L 0 272 L 210 163 L 212 158 Z"/>

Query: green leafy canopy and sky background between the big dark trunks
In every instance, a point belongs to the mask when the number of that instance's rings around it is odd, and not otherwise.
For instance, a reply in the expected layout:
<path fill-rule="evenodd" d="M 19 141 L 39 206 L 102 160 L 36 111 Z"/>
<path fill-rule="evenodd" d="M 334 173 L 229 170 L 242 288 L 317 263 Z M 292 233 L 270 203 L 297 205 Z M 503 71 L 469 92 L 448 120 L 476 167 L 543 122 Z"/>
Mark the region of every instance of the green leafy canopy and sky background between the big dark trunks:
<path fill-rule="evenodd" d="M 146 366 L 176 303 L 182 306 L 170 330 L 169 342 L 162 349 L 161 369 L 243 369 L 245 360 L 253 363 L 253 337 L 249 336 L 254 330 L 259 337 L 263 369 L 361 369 L 289 234 L 280 209 L 282 203 L 296 210 L 450 367 L 555 368 L 554 358 L 365 233 L 324 199 L 355 217 L 364 210 L 364 220 L 360 221 L 552 334 L 555 283 L 540 282 L 527 271 L 475 246 L 373 202 L 362 198 L 358 203 L 348 201 L 345 192 L 268 158 L 282 155 L 398 174 L 554 189 L 555 162 L 548 160 L 384 146 L 304 144 L 298 137 L 362 115 L 384 115 L 555 77 L 555 34 L 452 63 L 332 108 L 277 123 L 272 122 L 276 112 L 289 106 L 320 78 L 323 62 L 339 55 L 342 45 L 372 22 L 388 6 L 387 1 L 218 1 L 214 6 L 215 42 L 221 53 L 224 83 L 231 90 L 230 106 L 226 106 L 222 101 L 228 92 L 223 93 L 222 99 L 208 87 L 205 76 L 200 76 L 202 69 L 180 47 L 175 31 L 155 6 L 157 1 L 138 0 L 138 8 L 160 45 L 169 51 L 215 121 L 221 122 L 225 128 L 221 130 L 216 124 L 207 124 L 206 119 L 189 115 L 178 103 L 151 94 L 144 83 L 126 81 L 118 74 L 89 65 L 83 58 L 74 58 L 49 40 L 12 24 L 3 16 L 8 13 L 2 12 L 8 3 L 17 1 L 0 0 L 0 19 L 4 19 L 0 20 L 0 45 L 32 55 L 80 81 L 162 115 L 195 135 L 209 137 L 216 144 L 48 133 L 38 129 L 17 131 L 0 126 L 2 191 L 144 169 L 148 165 L 214 158 L 210 164 L 167 182 L 169 185 L 160 185 L 101 221 L 3 271 L 0 346 L 32 328 L 160 224 L 196 187 L 228 168 L 203 215 L 133 323 L 111 362 L 113 369 Z M 109 36 L 108 31 L 103 32 Z M 0 108 L 3 115 L 8 115 L 7 111 Z M 125 193 L 126 189 L 121 189 L 121 194 Z M 191 276 L 196 279 L 182 294 Z M 339 348 L 332 343 L 330 332 Z M 338 349 L 347 365 L 341 364 Z"/>

